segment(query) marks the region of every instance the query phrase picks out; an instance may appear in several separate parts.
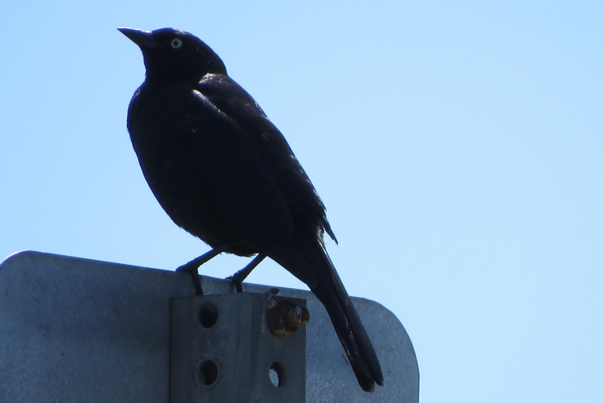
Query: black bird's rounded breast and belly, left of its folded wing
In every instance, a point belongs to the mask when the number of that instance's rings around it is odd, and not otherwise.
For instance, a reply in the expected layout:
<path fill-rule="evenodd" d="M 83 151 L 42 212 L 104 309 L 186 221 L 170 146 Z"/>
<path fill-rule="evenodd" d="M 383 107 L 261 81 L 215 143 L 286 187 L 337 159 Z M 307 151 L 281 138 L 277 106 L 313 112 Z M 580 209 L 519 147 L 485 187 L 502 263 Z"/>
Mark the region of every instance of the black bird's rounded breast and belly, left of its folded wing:
<path fill-rule="evenodd" d="M 253 247 L 222 219 L 211 186 L 212 150 L 204 136 L 208 121 L 191 103 L 193 88 L 143 85 L 130 103 L 128 129 L 143 175 L 172 220 L 216 247 L 239 243 L 233 253 L 251 255 Z"/>

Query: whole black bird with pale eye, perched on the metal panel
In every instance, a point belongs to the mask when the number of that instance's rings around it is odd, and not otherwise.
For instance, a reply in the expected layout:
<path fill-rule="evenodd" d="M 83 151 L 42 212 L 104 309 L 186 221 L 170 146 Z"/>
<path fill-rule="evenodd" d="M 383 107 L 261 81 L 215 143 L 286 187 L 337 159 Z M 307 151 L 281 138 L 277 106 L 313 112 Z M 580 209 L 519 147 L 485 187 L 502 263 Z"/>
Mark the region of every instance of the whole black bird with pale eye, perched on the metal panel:
<path fill-rule="evenodd" d="M 198 37 L 118 28 L 143 51 L 146 79 L 127 126 L 153 194 L 180 227 L 221 252 L 268 256 L 325 306 L 363 390 L 383 384 L 367 332 L 327 251 L 325 207 L 277 127 Z M 337 241 L 336 241 L 337 242 Z"/>

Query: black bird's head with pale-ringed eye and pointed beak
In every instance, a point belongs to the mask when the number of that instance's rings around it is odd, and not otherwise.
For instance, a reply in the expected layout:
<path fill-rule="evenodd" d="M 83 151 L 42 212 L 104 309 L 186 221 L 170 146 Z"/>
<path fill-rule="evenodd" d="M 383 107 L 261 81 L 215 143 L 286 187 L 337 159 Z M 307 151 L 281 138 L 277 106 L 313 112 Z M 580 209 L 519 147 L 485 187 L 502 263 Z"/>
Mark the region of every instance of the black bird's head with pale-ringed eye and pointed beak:
<path fill-rule="evenodd" d="M 147 79 L 199 79 L 207 73 L 226 74 L 220 57 L 193 34 L 175 28 L 118 30 L 143 51 Z"/>

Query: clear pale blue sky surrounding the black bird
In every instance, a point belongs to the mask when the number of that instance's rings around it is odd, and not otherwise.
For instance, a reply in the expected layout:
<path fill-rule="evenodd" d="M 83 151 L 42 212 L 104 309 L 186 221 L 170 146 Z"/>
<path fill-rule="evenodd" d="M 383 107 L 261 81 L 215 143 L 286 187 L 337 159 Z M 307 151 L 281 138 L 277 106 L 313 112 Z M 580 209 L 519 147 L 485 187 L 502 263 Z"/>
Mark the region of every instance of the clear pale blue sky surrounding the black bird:
<path fill-rule="evenodd" d="M 173 269 L 207 251 L 126 131 L 144 67 L 115 28 L 178 27 L 288 139 L 350 294 L 409 332 L 423 403 L 599 401 L 603 18 L 596 1 L 9 2 L 0 255 Z M 249 281 L 304 288 L 272 262 Z"/>

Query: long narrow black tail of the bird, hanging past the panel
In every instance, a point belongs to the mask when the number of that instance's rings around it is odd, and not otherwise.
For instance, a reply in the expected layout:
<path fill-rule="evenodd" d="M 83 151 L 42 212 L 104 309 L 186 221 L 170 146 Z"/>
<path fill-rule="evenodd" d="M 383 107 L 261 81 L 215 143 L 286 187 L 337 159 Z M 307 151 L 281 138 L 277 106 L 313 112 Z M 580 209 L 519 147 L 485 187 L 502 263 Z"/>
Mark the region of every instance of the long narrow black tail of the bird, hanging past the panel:
<path fill-rule="evenodd" d="M 288 261 L 275 260 L 307 283 L 323 303 L 359 385 L 365 392 L 373 392 L 376 383 L 384 384 L 382 369 L 361 318 L 331 259 L 316 237 L 300 236 L 292 241 L 295 251 L 285 259 Z M 309 271 L 312 273 L 310 276 Z"/>

